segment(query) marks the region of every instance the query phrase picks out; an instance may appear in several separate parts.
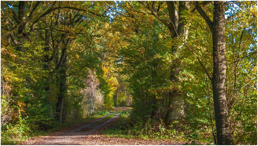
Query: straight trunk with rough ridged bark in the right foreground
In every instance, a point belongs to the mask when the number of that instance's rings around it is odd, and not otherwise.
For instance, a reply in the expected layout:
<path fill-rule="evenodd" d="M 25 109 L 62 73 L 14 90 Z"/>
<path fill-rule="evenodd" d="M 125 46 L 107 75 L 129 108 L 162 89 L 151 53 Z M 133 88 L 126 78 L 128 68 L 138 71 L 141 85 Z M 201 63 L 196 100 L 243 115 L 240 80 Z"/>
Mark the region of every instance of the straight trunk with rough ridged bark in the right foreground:
<path fill-rule="evenodd" d="M 214 114 L 217 129 L 217 144 L 232 145 L 229 127 L 229 114 L 225 94 L 226 58 L 225 58 L 225 10 L 223 1 L 214 1 L 212 40 L 213 40 L 213 75 L 212 91 Z"/>

